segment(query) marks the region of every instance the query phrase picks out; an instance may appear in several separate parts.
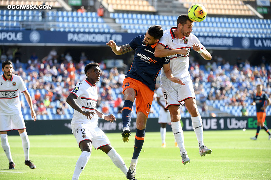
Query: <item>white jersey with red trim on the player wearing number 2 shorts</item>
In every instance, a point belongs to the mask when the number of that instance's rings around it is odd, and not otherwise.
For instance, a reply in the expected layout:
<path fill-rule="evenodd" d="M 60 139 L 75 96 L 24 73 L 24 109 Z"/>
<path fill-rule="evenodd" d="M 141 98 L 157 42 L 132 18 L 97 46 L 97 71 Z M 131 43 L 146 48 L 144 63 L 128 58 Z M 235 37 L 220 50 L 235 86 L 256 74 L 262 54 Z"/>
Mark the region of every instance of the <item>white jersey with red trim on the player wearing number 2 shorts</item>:
<path fill-rule="evenodd" d="M 75 110 L 71 120 L 72 127 L 75 122 L 87 123 L 91 127 L 96 127 L 99 118 L 95 111 L 98 99 L 98 90 L 96 85 L 91 84 L 88 79 L 86 79 L 83 82 L 78 82 L 70 93 L 73 93 L 77 97 L 75 101 L 82 109 L 84 109 L 84 111 L 92 111 L 95 113 L 94 115 L 90 114 L 92 118 L 89 120 L 87 119 L 87 116 L 84 116 Z"/>

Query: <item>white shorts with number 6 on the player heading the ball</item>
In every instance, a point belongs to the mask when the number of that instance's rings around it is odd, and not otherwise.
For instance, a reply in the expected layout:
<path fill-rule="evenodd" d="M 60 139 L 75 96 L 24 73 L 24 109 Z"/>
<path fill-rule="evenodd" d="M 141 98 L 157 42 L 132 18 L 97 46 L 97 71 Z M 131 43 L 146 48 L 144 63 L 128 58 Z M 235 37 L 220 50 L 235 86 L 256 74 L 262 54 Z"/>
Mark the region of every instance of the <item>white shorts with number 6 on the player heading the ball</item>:
<path fill-rule="evenodd" d="M 165 77 L 160 79 L 163 97 L 166 102 L 165 109 L 170 105 L 184 105 L 184 100 L 188 98 L 196 99 L 190 75 L 181 78 L 181 80 L 185 85 L 174 83 Z"/>

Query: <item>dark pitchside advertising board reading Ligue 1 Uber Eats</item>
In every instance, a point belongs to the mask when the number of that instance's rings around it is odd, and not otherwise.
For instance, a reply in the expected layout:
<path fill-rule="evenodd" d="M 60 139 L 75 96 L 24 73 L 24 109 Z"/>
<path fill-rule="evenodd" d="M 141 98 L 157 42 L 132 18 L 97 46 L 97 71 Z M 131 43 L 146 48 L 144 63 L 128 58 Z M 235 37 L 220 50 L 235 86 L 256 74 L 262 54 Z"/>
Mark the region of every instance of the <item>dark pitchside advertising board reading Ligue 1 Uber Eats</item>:
<path fill-rule="evenodd" d="M 208 117 L 202 118 L 204 130 L 231 130 L 231 129 L 256 129 L 256 117 Z M 184 131 L 193 131 L 191 118 L 182 118 L 182 128 Z M 265 124 L 271 127 L 271 116 L 267 116 Z M 27 134 L 40 135 L 40 134 L 71 134 L 71 120 L 26 120 L 25 125 Z M 116 119 L 114 123 L 106 120 L 99 119 L 98 127 L 104 132 L 122 132 L 122 120 Z M 131 120 L 130 130 L 136 131 L 136 119 Z M 159 132 L 160 124 L 158 118 L 148 118 L 147 132 Z M 167 126 L 167 131 L 172 131 L 171 126 Z M 17 131 L 8 132 L 9 135 L 17 135 Z"/>

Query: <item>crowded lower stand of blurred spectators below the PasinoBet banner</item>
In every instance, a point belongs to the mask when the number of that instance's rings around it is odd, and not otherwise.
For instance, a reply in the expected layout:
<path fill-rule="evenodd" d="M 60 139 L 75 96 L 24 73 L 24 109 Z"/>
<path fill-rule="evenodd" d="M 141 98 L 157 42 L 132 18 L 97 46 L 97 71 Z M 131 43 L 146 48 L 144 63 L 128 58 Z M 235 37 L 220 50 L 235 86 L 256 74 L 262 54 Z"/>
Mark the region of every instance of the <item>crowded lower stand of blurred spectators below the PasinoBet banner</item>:
<path fill-rule="evenodd" d="M 66 59 L 70 59 L 69 56 L 66 55 Z M 79 63 L 72 63 L 66 59 L 62 59 L 62 63 L 52 63 L 48 56 L 41 61 L 32 60 L 29 64 L 19 61 L 14 64 L 15 74 L 21 75 L 33 98 L 38 119 L 52 120 L 72 117 L 73 109 L 66 104 L 65 100 L 75 84 L 85 80 L 83 69 L 85 64 L 90 61 L 81 60 Z M 256 84 L 262 83 L 265 92 L 269 96 L 271 95 L 271 65 L 262 64 L 251 67 L 249 62 L 245 62 L 242 66 L 230 66 L 218 59 L 221 57 L 214 57 L 212 64 L 208 63 L 205 66 L 191 61 L 189 71 L 202 116 L 210 116 L 210 111 L 203 107 L 205 103 L 214 108 L 212 112 L 224 112 L 230 116 L 241 116 L 241 109 L 244 105 L 248 109 L 249 116 L 256 116 L 256 107 L 250 105 L 252 94 L 255 93 Z M 101 95 L 97 103 L 98 109 L 121 118 L 124 72 L 117 68 L 106 69 L 103 62 L 100 63 L 100 66 L 103 73 L 98 82 L 98 92 Z M 22 114 L 26 120 L 30 120 L 30 109 L 22 93 L 20 99 L 23 106 Z M 135 109 L 135 107 L 133 108 Z M 149 117 L 158 118 L 159 110 L 160 106 L 154 98 Z M 271 115 L 270 106 L 266 112 L 267 116 Z M 181 106 L 181 116 L 183 118 L 190 116 L 184 106 Z"/>

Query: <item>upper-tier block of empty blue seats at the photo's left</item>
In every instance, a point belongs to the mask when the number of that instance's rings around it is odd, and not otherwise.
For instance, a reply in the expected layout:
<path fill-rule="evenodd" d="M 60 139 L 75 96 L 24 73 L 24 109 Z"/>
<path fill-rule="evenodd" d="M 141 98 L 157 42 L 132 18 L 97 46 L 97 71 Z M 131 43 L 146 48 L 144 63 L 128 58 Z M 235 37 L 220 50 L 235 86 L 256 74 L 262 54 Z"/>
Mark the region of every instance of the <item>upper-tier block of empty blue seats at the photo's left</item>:
<path fill-rule="evenodd" d="M 0 10 L 0 30 L 24 30 L 33 22 L 41 23 L 42 27 L 46 22 L 51 31 L 115 32 L 96 12 L 48 11 L 43 20 L 36 10 Z"/>

